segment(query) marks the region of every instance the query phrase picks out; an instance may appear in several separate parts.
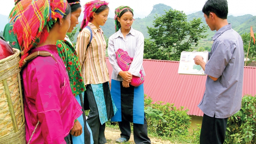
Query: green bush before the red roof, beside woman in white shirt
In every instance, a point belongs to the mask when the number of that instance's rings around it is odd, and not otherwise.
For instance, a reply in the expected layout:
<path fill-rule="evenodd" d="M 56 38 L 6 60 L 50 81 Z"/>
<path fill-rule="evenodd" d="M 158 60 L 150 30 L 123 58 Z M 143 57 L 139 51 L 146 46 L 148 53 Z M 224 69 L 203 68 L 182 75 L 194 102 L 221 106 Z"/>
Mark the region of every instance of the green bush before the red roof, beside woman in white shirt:
<path fill-rule="evenodd" d="M 174 104 L 156 102 L 152 104 L 152 99 L 145 99 L 145 110 L 147 126 L 151 132 L 159 136 L 189 135 L 190 117 L 187 115 L 188 109 L 184 107 L 176 108 Z"/>

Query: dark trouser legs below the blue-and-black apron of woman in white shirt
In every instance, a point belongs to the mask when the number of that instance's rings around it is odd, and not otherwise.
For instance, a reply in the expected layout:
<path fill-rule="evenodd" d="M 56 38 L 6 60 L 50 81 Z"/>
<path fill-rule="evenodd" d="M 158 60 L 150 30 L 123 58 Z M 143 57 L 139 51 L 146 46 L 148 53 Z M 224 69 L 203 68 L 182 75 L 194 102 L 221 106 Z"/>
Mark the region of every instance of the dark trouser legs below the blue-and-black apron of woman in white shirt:
<path fill-rule="evenodd" d="M 121 131 L 121 138 L 126 138 L 128 141 L 131 136 L 131 125 L 130 122 L 127 120 L 122 120 L 118 122 L 120 131 Z M 147 136 L 147 120 L 146 115 L 144 113 L 144 124 L 134 124 L 133 123 L 133 135 L 134 135 L 134 142 L 136 144 L 151 144 L 150 138 Z"/>

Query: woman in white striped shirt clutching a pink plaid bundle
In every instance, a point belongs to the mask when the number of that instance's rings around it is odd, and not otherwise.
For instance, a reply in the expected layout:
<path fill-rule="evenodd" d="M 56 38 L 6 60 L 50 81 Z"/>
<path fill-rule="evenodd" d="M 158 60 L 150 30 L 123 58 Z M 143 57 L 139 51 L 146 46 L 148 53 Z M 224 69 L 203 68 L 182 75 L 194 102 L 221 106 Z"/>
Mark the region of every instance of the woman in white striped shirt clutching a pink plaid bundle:
<path fill-rule="evenodd" d="M 116 141 L 126 142 L 130 139 L 132 122 L 134 142 L 150 144 L 142 84 L 145 75 L 142 66 L 144 37 L 131 27 L 133 10 L 129 6 L 115 9 L 114 19 L 116 33 L 109 38 L 108 54 L 113 67 L 111 95 L 118 109 L 111 121 L 118 121 L 121 131 L 121 138 Z"/>

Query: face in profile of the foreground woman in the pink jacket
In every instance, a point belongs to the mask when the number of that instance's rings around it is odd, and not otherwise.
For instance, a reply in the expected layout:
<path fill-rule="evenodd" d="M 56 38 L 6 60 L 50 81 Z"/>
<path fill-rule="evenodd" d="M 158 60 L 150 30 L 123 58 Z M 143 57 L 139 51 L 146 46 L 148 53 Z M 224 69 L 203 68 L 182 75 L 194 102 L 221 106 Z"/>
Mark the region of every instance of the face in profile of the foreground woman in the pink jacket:
<path fill-rule="evenodd" d="M 59 39 L 58 40 L 64 40 L 66 37 L 66 33 L 68 29 L 70 28 L 70 16 L 71 14 L 68 14 L 66 19 L 61 18 L 61 23 L 59 24 Z"/>

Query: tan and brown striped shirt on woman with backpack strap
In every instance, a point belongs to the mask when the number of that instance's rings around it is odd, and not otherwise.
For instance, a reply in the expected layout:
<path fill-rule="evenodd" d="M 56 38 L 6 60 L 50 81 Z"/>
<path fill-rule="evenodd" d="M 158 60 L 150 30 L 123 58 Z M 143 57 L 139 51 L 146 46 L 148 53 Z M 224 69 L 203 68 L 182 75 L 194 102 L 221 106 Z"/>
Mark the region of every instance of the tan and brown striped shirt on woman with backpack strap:
<path fill-rule="evenodd" d="M 106 41 L 101 28 L 97 29 L 92 23 L 88 26 L 93 32 L 90 42 L 90 31 L 84 28 L 77 36 L 76 52 L 82 66 L 82 76 L 85 85 L 102 84 L 109 81 L 109 71 L 105 60 Z"/>

